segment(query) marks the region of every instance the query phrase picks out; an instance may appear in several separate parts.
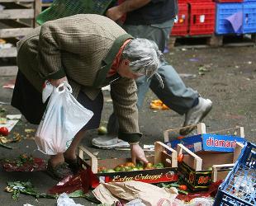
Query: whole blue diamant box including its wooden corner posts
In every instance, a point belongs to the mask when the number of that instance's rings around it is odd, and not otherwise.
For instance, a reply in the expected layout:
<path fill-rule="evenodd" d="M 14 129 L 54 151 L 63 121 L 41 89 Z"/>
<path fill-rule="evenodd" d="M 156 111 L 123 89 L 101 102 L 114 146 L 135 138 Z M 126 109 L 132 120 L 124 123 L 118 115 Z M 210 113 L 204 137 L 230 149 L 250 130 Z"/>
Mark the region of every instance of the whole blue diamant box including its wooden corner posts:
<path fill-rule="evenodd" d="M 239 127 L 235 129 L 239 129 L 240 136 L 217 134 L 220 131 L 206 133 L 206 125 L 201 123 L 197 124 L 197 133 L 199 133 L 197 135 L 179 138 L 169 142 L 168 132 L 174 130 L 170 129 L 164 132 L 164 141 L 168 146 L 172 147 L 173 149 L 176 149 L 177 145 L 179 143 L 182 143 L 192 152 L 234 152 L 236 143 L 246 143 L 246 140 L 244 139 L 244 128 Z M 230 130 L 235 129 L 224 129 L 222 131 L 230 132 Z"/>

